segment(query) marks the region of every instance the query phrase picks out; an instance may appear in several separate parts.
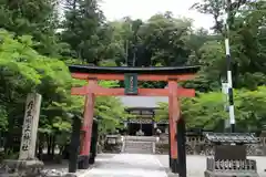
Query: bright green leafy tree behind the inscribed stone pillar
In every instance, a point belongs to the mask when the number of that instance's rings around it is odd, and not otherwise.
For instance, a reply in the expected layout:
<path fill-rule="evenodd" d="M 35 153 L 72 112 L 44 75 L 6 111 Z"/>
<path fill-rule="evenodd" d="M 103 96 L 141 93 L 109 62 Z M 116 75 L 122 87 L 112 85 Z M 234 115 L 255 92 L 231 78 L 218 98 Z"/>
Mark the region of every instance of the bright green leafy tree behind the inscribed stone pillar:
<path fill-rule="evenodd" d="M 53 118 L 45 112 L 54 102 L 68 102 L 71 76 L 65 64 L 37 53 L 30 35 L 17 37 L 0 31 L 0 102 L 9 118 L 8 131 L 20 132 L 25 96 L 38 92 L 43 96 L 43 118 Z M 4 115 L 4 114 L 3 114 Z M 62 114 L 59 114 L 62 116 Z M 40 121 L 42 127 L 42 119 Z M 9 138 L 12 139 L 12 138 Z M 11 146 L 12 142 L 8 146 Z"/>

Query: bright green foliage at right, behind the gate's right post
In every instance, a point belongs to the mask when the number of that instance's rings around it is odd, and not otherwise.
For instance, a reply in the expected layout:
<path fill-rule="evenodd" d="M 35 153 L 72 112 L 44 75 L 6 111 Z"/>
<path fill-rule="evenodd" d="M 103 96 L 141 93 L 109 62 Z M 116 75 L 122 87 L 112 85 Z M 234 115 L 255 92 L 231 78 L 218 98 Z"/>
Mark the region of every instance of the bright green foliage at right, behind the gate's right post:
<path fill-rule="evenodd" d="M 265 112 L 265 86 L 256 91 L 239 90 L 235 94 L 236 124 L 238 131 L 264 129 Z M 182 98 L 182 117 L 186 119 L 190 128 L 217 129 L 224 119 L 228 118 L 225 111 L 225 98 L 222 93 L 204 93 L 194 98 Z M 168 118 L 167 103 L 160 103 L 157 119 Z"/>

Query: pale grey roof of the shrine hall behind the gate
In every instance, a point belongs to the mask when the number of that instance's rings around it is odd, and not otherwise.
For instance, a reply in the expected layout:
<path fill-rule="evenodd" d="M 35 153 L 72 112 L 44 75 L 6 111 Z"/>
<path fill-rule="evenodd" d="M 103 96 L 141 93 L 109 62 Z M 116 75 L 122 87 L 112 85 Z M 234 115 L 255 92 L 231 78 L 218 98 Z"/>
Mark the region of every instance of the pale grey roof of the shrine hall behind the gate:
<path fill-rule="evenodd" d="M 168 103 L 166 96 L 117 96 L 127 108 L 156 108 L 158 103 Z"/>

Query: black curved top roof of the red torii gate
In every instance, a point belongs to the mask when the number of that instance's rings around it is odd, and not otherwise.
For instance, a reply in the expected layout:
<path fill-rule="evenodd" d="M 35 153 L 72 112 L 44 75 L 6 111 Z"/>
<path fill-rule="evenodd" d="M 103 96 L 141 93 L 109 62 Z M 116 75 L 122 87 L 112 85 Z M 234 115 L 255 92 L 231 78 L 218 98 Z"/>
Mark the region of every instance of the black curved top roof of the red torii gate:
<path fill-rule="evenodd" d="M 173 67 L 127 67 L 127 66 L 91 66 L 70 65 L 71 73 L 93 73 L 93 74 L 194 74 L 200 66 L 173 66 Z"/>

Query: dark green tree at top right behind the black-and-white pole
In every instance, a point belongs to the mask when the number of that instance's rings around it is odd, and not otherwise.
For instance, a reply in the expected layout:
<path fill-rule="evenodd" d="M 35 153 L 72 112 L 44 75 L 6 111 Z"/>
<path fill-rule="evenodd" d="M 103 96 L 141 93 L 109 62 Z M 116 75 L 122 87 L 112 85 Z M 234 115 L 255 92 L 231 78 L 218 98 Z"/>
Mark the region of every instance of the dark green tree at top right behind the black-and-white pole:
<path fill-rule="evenodd" d="M 216 21 L 216 33 L 223 35 L 224 31 L 221 27 L 221 19 L 224 14 L 225 4 L 214 1 L 204 0 L 202 3 L 194 6 L 200 12 L 211 13 Z M 265 1 L 236 1 L 229 7 L 231 19 L 231 52 L 233 59 L 233 80 L 235 87 L 256 88 L 258 85 L 265 84 Z M 218 75 L 226 76 L 225 61 L 222 61 L 222 54 L 225 55 L 224 42 L 217 40 L 213 43 L 207 41 L 197 54 L 196 63 L 205 63 L 203 74 L 205 77 L 213 77 L 211 81 L 217 81 Z M 217 55 L 213 55 L 212 51 L 216 51 Z M 223 52 L 224 51 L 224 52 Z M 221 60 L 217 60 L 219 58 Z M 194 58 L 195 62 L 195 58 Z M 222 63 L 221 63 L 222 62 Z M 209 67 L 211 65 L 211 67 Z M 216 74 L 215 74 L 216 73 Z"/>

